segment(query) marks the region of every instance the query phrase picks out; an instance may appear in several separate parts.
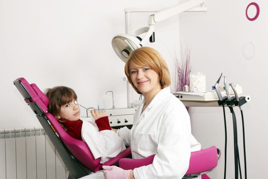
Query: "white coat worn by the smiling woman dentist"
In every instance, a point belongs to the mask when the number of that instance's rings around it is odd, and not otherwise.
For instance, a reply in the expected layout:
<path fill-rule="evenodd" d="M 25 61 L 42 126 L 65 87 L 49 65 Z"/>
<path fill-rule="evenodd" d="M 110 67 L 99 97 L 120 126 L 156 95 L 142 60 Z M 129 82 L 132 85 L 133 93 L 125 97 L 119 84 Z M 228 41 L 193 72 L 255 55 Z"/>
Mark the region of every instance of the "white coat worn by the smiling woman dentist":
<path fill-rule="evenodd" d="M 186 173 L 190 152 L 201 149 L 191 135 L 190 118 L 183 103 L 162 89 L 141 113 L 134 115 L 133 127 L 117 131 L 126 145 L 131 146 L 132 158 L 142 159 L 156 154 L 153 164 L 134 169 L 136 179 L 182 178 Z"/>

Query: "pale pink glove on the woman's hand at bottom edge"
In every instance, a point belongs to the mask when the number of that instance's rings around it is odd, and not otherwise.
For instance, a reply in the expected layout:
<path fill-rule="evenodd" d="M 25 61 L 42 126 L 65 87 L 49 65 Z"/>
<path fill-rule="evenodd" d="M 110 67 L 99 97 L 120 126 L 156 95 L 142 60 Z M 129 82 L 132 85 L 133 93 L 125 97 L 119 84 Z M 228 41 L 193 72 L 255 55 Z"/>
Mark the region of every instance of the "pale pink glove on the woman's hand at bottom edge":
<path fill-rule="evenodd" d="M 106 179 L 129 179 L 131 170 L 124 170 L 116 166 L 103 166 Z"/>

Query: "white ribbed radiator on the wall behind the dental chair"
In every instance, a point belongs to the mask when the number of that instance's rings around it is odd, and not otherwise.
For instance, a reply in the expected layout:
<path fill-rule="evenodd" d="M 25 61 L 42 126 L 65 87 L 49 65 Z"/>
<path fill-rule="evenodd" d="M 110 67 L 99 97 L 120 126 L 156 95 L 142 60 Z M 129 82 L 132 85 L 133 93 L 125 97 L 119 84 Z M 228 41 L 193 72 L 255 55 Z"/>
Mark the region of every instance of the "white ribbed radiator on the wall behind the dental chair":
<path fill-rule="evenodd" d="M 42 128 L 0 129 L 1 179 L 66 179 L 68 171 Z"/>

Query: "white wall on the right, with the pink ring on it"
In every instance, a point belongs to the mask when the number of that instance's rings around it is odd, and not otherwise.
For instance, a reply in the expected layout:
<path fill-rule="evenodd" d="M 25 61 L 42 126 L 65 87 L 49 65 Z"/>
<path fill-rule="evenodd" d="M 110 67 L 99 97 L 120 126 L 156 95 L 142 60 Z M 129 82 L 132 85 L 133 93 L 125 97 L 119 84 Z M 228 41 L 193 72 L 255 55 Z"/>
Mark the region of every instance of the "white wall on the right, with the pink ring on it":
<path fill-rule="evenodd" d="M 180 15 L 180 39 L 191 49 L 193 71 L 206 74 L 207 89 L 215 84 L 221 72 L 227 82 L 238 82 L 243 94 L 252 100 L 243 105 L 246 128 L 248 178 L 264 178 L 267 169 L 268 147 L 265 91 L 267 85 L 267 20 L 268 3 L 255 1 L 260 6 L 255 21 L 246 18 L 246 8 L 252 1 L 208 1 L 206 13 L 183 13 Z M 243 57 L 243 46 L 252 41 L 256 46 L 255 58 Z M 222 83 L 223 85 L 223 79 Z M 264 92 L 264 94 L 262 93 Z M 243 169 L 242 126 L 238 109 L 239 152 Z M 229 109 L 227 113 L 228 157 L 227 177 L 234 178 L 233 129 Z M 212 178 L 223 178 L 224 171 L 224 119 L 221 107 L 191 108 L 193 135 L 203 148 L 216 145 L 222 149 L 219 166 L 211 172 Z"/>

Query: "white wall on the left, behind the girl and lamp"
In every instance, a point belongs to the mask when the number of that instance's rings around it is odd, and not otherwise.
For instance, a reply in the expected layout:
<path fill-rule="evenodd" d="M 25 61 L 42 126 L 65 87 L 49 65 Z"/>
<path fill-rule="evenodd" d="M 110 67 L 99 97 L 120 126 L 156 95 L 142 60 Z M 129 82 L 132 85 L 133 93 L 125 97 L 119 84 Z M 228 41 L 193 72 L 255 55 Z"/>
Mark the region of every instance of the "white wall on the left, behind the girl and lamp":
<path fill-rule="evenodd" d="M 74 88 L 80 104 L 87 107 L 102 107 L 102 96 L 113 91 L 115 107 L 126 107 L 125 63 L 111 46 L 113 36 L 125 33 L 124 8 L 165 8 L 177 3 L 0 0 L 1 128 L 40 126 L 13 85 L 19 77 L 42 90 L 56 85 Z M 146 26 L 150 14 L 133 14 L 132 30 Z M 169 51 L 179 41 L 179 16 L 157 24 L 155 29 L 154 48 L 173 72 Z M 138 99 L 138 95 L 134 97 Z"/>

